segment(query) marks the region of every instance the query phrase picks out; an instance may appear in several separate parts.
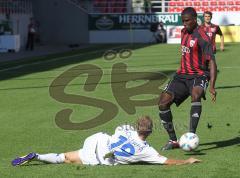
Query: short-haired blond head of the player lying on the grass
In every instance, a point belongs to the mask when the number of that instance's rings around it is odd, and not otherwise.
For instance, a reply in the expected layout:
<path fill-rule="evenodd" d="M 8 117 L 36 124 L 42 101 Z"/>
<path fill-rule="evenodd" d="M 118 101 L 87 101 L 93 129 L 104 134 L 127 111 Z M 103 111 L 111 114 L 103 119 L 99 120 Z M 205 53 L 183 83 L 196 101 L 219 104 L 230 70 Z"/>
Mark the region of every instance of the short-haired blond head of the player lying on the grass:
<path fill-rule="evenodd" d="M 149 116 L 142 116 L 137 120 L 137 132 L 139 136 L 147 138 L 152 133 L 153 122 Z"/>

